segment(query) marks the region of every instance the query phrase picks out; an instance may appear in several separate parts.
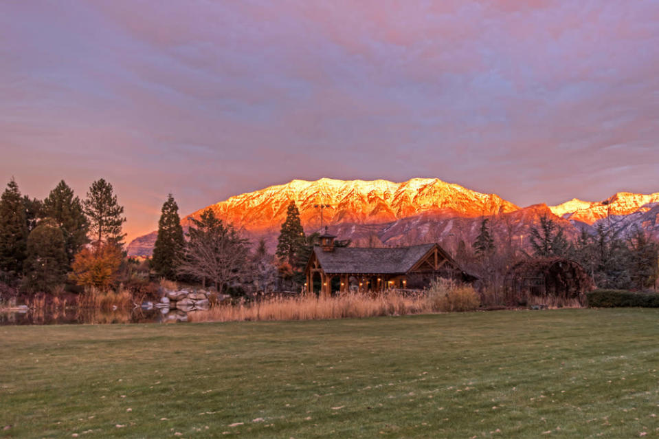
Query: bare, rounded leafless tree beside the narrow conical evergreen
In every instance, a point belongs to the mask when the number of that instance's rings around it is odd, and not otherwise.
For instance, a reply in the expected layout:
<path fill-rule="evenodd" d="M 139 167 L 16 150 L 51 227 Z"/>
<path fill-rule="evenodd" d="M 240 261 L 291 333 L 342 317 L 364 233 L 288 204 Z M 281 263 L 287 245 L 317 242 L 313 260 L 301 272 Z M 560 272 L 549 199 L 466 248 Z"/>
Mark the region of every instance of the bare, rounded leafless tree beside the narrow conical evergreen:
<path fill-rule="evenodd" d="M 208 208 L 188 231 L 181 275 L 190 275 L 205 284 L 214 283 L 218 292 L 225 292 L 232 283 L 245 275 L 249 258 L 249 242 L 230 225 L 224 224 Z"/>

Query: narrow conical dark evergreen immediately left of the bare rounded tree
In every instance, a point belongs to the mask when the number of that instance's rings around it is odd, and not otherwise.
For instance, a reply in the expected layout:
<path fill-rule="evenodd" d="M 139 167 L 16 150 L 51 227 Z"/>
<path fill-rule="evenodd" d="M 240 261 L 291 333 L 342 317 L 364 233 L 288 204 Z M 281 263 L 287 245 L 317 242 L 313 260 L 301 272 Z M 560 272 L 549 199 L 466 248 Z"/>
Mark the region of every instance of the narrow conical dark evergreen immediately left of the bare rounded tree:
<path fill-rule="evenodd" d="M 176 279 L 185 243 L 179 206 L 172 194 L 169 194 L 167 201 L 162 205 L 158 237 L 155 240 L 151 259 L 151 266 L 159 276 L 170 280 Z"/>

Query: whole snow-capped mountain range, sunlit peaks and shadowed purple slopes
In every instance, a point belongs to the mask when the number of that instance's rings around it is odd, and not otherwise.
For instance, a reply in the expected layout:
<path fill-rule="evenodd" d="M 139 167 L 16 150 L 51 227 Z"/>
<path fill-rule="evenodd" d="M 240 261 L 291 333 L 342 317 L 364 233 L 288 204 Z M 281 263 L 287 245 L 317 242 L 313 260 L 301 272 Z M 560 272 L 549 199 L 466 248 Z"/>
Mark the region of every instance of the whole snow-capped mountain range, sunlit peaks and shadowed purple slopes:
<path fill-rule="evenodd" d="M 321 230 L 322 221 L 339 239 L 352 239 L 354 246 L 398 246 L 439 242 L 447 250 L 458 243 L 473 242 L 482 217 L 491 219 L 498 242 L 529 245 L 530 228 L 542 216 L 552 217 L 576 237 L 582 228 L 593 231 L 606 222 L 627 235 L 635 227 L 659 238 L 659 193 L 649 195 L 619 192 L 603 200 L 570 200 L 557 206 L 535 204 L 520 207 L 493 193 L 471 191 L 438 179 L 413 178 L 394 183 L 387 180 L 293 180 L 259 191 L 243 193 L 199 209 L 181 219 L 187 228 L 191 217 L 206 208 L 240 228 L 255 242 L 265 239 L 276 247 L 289 203 L 297 204 L 306 233 Z M 148 256 L 157 233 L 134 239 L 128 246 L 131 256 Z"/>

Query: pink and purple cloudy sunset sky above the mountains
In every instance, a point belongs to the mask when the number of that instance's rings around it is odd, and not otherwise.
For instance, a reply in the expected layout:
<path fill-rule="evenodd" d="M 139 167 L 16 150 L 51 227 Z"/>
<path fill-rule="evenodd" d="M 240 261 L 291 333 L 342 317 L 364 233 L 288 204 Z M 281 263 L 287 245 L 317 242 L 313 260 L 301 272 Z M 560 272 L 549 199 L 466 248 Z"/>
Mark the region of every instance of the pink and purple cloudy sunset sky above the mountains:
<path fill-rule="evenodd" d="M 129 239 L 322 177 L 526 206 L 659 192 L 659 1 L 0 0 L 0 184 Z"/>

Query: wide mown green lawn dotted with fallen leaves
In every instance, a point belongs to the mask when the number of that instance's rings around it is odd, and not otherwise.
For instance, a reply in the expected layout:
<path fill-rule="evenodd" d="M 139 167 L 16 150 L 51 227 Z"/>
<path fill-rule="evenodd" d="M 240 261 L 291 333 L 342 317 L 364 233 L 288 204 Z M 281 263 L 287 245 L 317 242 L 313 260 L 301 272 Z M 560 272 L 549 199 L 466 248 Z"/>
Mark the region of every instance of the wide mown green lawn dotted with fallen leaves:
<path fill-rule="evenodd" d="M 658 437 L 658 322 L 608 309 L 1 327 L 0 437 Z"/>

